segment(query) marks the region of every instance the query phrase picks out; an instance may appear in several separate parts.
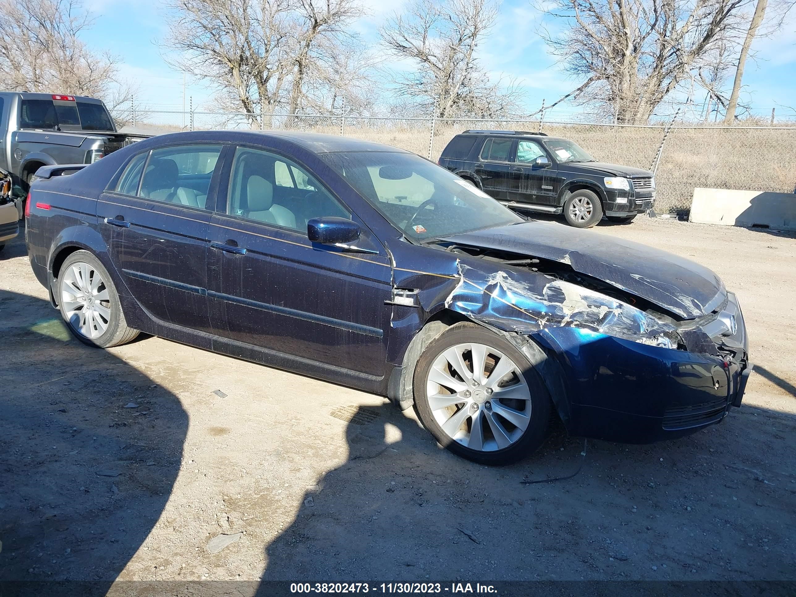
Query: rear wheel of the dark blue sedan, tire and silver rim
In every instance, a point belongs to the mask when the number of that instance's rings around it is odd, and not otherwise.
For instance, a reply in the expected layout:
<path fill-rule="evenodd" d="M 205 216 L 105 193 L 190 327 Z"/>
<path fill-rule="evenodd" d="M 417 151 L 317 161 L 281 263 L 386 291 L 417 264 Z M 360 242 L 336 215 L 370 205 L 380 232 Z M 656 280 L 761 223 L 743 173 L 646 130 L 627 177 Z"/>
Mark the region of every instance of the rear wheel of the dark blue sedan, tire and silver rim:
<path fill-rule="evenodd" d="M 100 259 L 76 251 L 60 267 L 58 306 L 69 331 L 90 346 L 110 348 L 139 335 L 127 327 L 119 294 Z"/>

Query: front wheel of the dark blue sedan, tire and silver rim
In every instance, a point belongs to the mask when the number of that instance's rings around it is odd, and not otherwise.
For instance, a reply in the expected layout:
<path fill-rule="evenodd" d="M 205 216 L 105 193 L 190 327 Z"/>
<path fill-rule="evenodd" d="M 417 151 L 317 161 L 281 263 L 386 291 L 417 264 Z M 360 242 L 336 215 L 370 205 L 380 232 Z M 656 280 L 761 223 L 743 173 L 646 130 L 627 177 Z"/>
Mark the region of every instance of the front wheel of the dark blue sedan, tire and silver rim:
<path fill-rule="evenodd" d="M 550 397 L 514 345 L 473 323 L 439 334 L 417 362 L 415 407 L 448 450 L 481 464 L 516 462 L 544 441 Z"/>

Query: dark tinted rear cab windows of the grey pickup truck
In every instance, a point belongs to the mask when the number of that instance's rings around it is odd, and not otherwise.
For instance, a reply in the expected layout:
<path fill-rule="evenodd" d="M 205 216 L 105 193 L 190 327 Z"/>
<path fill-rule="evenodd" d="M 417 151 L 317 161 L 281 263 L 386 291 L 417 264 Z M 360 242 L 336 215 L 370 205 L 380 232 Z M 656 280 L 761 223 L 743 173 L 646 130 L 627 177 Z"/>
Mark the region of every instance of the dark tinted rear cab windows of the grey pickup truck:
<path fill-rule="evenodd" d="M 20 127 L 113 131 L 111 117 L 102 104 L 53 100 L 22 100 Z"/>

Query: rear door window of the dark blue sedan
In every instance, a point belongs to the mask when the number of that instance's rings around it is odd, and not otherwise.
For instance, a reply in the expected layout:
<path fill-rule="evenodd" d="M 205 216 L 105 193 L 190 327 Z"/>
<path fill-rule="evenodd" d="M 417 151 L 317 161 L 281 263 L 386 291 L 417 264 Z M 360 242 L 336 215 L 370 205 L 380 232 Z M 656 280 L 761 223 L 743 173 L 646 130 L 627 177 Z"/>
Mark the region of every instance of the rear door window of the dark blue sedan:
<path fill-rule="evenodd" d="M 205 209 L 210 178 L 220 153 L 220 145 L 153 150 L 146 162 L 139 197 Z"/>

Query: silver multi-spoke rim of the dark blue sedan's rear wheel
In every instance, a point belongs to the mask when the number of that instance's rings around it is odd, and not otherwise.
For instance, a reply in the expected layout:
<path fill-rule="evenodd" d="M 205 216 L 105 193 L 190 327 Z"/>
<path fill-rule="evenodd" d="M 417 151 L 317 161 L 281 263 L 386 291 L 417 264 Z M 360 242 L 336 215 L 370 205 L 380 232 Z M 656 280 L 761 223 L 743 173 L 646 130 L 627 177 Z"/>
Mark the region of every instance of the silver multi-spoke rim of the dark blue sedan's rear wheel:
<path fill-rule="evenodd" d="M 77 261 L 60 277 L 60 304 L 69 325 L 81 336 L 100 338 L 111 322 L 111 295 L 100 271 Z"/>

